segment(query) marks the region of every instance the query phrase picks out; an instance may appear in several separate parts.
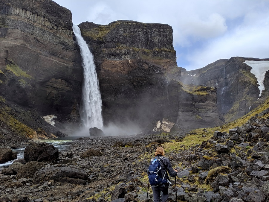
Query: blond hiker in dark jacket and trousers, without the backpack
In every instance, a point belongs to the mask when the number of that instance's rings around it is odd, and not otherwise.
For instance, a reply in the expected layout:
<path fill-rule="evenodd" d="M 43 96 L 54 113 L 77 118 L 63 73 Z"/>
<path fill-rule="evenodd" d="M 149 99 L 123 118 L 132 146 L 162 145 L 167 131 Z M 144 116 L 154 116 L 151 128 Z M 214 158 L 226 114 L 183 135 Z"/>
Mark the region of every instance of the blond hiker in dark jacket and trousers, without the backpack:
<path fill-rule="evenodd" d="M 173 170 L 172 165 L 170 163 L 170 160 L 167 157 L 164 157 L 164 149 L 162 147 L 157 147 L 155 151 L 155 158 L 153 158 L 151 161 L 154 159 L 161 159 L 160 164 L 161 164 L 161 176 L 164 176 L 164 179 L 167 179 L 166 183 L 161 183 L 158 186 L 152 186 L 152 191 L 153 191 L 153 199 L 154 202 L 159 202 L 160 201 L 160 195 L 161 191 L 163 192 L 161 201 L 166 201 L 168 198 L 168 186 L 170 182 L 169 176 L 166 172 L 166 169 L 171 177 L 176 177 L 178 174 L 178 171 L 176 169 Z"/>

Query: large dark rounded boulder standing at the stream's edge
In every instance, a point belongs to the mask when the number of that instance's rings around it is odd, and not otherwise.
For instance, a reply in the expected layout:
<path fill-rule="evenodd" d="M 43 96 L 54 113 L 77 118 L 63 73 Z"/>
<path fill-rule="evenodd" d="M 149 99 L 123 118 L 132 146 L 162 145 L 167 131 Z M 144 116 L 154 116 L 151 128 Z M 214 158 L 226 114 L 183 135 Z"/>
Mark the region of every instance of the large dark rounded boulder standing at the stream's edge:
<path fill-rule="evenodd" d="M 56 162 L 59 157 L 59 150 L 46 142 L 39 142 L 28 145 L 23 156 L 26 162 Z"/>

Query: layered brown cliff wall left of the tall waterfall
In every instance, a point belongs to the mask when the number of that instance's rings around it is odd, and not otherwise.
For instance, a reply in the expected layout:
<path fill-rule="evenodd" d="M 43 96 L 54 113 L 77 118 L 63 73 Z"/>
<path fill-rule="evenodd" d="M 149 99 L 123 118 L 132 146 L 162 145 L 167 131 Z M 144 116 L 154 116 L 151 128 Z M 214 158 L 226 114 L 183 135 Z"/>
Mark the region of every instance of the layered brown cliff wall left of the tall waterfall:
<path fill-rule="evenodd" d="M 50 0 L 0 3 L 0 92 L 59 119 L 79 118 L 80 53 L 71 11 Z"/>

